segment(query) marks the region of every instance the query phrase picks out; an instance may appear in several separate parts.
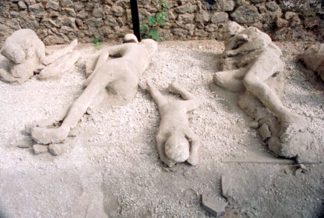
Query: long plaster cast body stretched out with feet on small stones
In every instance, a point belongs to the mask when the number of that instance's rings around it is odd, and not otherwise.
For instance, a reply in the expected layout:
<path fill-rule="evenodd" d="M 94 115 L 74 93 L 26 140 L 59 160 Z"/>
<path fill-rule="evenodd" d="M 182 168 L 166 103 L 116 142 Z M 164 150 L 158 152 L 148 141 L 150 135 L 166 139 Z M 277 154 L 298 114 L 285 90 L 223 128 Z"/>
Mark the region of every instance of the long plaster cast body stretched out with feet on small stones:
<path fill-rule="evenodd" d="M 133 35 L 131 38 L 136 37 Z M 30 130 L 26 131 L 30 131 L 34 141 L 40 144 L 62 142 L 102 90 L 106 89 L 112 95 L 128 100 L 135 97 L 140 76 L 148 67 L 150 58 L 157 49 L 157 43 L 152 39 L 144 39 L 140 43 L 136 43 L 137 40 L 132 41 L 135 42 L 108 47 L 101 51 L 92 74 L 85 82 L 85 90 L 72 105 L 50 120 L 28 127 Z M 119 58 L 108 60 L 109 56 Z M 47 128 L 51 122 L 58 122 L 60 119 L 64 119 L 60 127 Z"/>

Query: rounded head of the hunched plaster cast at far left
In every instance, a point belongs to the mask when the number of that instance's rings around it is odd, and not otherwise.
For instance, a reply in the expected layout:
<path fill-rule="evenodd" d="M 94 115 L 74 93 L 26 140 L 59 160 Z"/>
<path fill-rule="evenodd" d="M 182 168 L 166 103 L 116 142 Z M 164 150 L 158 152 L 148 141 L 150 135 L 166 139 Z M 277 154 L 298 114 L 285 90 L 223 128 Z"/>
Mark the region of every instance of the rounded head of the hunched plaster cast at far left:
<path fill-rule="evenodd" d="M 16 64 L 21 64 L 26 59 L 25 50 L 19 44 L 10 43 L 7 40 L 2 46 L 0 52 L 1 55 Z"/>

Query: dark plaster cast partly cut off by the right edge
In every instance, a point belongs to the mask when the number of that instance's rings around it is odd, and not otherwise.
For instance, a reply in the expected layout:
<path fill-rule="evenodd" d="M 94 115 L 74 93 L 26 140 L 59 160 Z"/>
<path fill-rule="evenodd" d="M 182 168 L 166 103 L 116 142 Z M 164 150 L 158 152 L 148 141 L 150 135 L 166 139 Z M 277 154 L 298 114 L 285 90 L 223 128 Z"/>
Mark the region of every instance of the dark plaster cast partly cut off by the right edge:
<path fill-rule="evenodd" d="M 308 46 L 298 60 L 324 81 L 324 44 Z"/>

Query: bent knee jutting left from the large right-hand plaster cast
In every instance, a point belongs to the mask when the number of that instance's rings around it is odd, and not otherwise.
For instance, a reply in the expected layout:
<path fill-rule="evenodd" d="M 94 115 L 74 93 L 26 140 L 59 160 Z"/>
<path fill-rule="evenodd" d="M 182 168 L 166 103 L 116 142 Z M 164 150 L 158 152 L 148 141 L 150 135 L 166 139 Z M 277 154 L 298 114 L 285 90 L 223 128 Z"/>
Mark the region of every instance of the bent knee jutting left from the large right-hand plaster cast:
<path fill-rule="evenodd" d="M 214 83 L 222 88 L 228 89 L 233 92 L 242 92 L 246 89 L 242 81 L 246 73 L 246 68 L 220 71 L 214 74 L 213 79 Z"/>

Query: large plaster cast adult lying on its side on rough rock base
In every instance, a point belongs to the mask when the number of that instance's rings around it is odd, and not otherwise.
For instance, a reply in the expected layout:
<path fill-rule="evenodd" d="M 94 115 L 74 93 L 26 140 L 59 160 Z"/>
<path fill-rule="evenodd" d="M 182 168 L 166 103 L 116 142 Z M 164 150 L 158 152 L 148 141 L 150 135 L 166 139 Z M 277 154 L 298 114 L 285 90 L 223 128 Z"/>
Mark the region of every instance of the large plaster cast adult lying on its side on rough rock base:
<path fill-rule="evenodd" d="M 223 29 L 228 40 L 214 82 L 234 92 L 245 91 L 239 106 L 259 122 L 259 133 L 270 150 L 300 162 L 313 161 L 316 139 L 308 132 L 306 121 L 291 113 L 279 98 L 284 69 L 281 50 L 255 27 L 244 29 L 230 22 Z"/>

